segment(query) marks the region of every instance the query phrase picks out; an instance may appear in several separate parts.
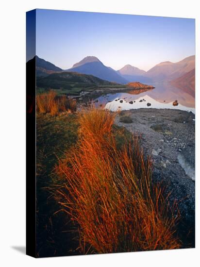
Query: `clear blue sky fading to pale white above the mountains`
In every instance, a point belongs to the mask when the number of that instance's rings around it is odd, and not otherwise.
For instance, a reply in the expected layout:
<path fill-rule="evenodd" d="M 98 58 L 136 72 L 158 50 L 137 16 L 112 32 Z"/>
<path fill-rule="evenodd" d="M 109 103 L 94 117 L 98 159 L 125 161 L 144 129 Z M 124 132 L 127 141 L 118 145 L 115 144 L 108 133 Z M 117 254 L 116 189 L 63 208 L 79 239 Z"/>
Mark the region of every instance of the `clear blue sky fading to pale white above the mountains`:
<path fill-rule="evenodd" d="M 37 9 L 36 54 L 63 69 L 96 56 L 147 71 L 195 54 L 195 19 Z"/>

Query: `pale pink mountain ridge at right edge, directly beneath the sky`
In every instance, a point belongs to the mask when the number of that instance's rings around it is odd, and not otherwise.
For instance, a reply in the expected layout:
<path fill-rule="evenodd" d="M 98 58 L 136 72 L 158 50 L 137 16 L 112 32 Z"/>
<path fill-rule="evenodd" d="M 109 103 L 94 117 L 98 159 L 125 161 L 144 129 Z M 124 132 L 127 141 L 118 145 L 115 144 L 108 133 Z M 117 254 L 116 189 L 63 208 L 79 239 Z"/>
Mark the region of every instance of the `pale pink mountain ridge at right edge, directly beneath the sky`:
<path fill-rule="evenodd" d="M 189 56 L 182 61 L 172 63 L 170 61 L 161 62 L 145 73 L 154 82 L 170 81 L 176 79 L 186 72 L 195 68 L 195 56 Z"/>

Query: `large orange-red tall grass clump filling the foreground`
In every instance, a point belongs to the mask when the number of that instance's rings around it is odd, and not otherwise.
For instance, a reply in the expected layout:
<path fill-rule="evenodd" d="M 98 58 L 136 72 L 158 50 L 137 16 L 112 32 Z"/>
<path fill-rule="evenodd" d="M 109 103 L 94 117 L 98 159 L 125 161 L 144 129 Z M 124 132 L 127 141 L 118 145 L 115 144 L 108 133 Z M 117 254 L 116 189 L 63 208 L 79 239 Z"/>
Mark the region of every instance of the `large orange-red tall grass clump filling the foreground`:
<path fill-rule="evenodd" d="M 74 221 L 83 253 L 176 249 L 176 218 L 152 163 L 134 137 L 117 149 L 115 114 L 91 108 L 79 115 L 78 144 L 55 167 L 55 199 Z"/>

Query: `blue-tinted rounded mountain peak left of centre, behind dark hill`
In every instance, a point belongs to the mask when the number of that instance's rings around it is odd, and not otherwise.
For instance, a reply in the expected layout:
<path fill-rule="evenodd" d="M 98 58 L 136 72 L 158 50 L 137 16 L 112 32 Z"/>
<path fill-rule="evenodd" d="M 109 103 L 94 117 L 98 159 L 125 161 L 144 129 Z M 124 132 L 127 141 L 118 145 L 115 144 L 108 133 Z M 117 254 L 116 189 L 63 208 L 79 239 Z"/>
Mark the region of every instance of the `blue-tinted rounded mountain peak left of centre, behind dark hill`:
<path fill-rule="evenodd" d="M 97 57 L 94 56 L 87 56 L 83 58 L 83 60 L 74 64 L 72 68 L 69 68 L 66 71 L 91 74 L 109 82 L 127 83 L 127 80 L 121 77 L 117 71 L 111 67 L 106 67 Z"/>

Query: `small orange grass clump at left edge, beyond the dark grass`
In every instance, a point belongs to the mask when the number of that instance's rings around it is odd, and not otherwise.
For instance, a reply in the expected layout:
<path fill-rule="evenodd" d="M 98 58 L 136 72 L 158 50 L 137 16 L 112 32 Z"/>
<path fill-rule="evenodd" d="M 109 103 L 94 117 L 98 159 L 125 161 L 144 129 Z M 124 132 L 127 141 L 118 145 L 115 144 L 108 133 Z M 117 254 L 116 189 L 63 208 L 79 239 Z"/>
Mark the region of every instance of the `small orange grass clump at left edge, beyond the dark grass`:
<path fill-rule="evenodd" d="M 50 113 L 51 116 L 56 116 L 60 112 L 76 111 L 76 101 L 66 96 L 58 97 L 53 90 L 50 90 L 36 96 L 36 109 L 39 113 Z"/>

